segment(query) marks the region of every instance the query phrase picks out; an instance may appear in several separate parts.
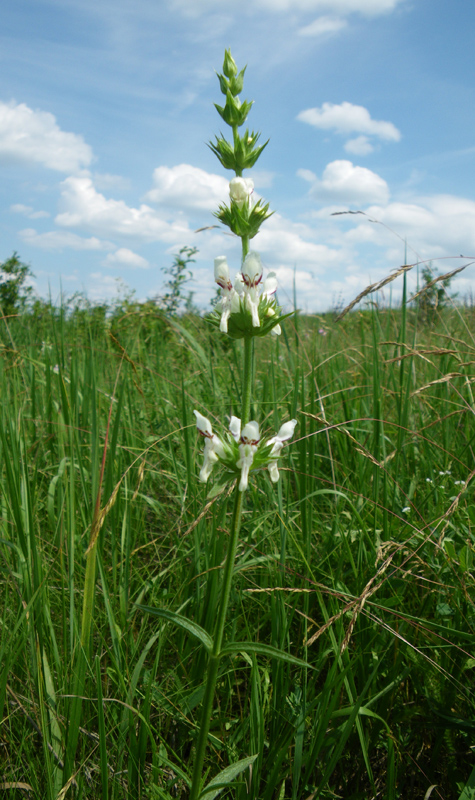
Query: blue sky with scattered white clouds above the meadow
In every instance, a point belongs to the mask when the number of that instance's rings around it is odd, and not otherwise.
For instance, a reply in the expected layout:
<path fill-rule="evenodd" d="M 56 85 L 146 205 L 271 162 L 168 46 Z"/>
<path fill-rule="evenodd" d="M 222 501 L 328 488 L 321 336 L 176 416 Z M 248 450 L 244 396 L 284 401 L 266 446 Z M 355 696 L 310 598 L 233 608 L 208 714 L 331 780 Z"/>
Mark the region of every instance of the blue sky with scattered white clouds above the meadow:
<path fill-rule="evenodd" d="M 246 126 L 270 140 L 245 177 L 275 212 L 251 247 L 279 302 L 328 311 L 418 261 L 467 264 L 451 290 L 471 297 L 474 30 L 466 0 L 6 0 L 0 264 L 17 252 L 55 302 L 114 303 L 163 294 L 196 247 L 185 291 L 205 309 L 214 258 L 240 265 L 211 227 L 233 173 L 207 147 L 230 133 L 231 48 Z M 384 291 L 397 302 L 401 278 Z"/>

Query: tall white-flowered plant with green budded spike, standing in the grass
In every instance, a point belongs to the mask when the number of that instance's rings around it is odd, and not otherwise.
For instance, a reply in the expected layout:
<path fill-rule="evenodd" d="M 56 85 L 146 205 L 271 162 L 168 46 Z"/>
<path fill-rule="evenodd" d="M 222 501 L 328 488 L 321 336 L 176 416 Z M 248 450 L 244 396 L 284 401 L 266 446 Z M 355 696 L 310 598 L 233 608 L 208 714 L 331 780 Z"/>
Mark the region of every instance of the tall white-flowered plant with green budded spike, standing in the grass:
<path fill-rule="evenodd" d="M 234 280 L 226 256 L 217 256 L 214 261 L 214 278 L 220 289 L 220 298 L 214 312 L 208 317 L 216 328 L 217 335 L 225 335 L 231 339 L 242 340 L 242 390 L 241 415 L 230 416 L 228 425 L 223 424 L 221 430 L 215 431 L 201 411 L 194 410 L 196 426 L 200 437 L 204 440 L 203 461 L 199 469 L 199 479 L 207 483 L 213 471 L 217 470 L 215 481 L 208 497 L 218 495 L 227 484 L 234 482 L 233 511 L 230 521 L 227 554 L 224 562 L 221 594 L 218 603 L 217 618 L 212 635 L 191 623 L 179 614 L 161 609 L 154 609 L 158 616 L 165 616 L 186 630 L 194 632 L 208 652 L 205 690 L 202 703 L 201 722 L 196 738 L 193 775 L 191 779 L 190 800 L 199 800 L 211 791 L 210 786 L 202 788 L 202 774 L 205 753 L 208 743 L 208 732 L 213 712 L 214 695 L 218 678 L 220 659 L 226 650 L 223 647 L 224 631 L 227 616 L 231 585 L 234 575 L 241 515 L 244 498 L 250 481 L 259 471 L 267 470 L 270 480 L 279 480 L 279 462 L 286 442 L 295 431 L 296 419 L 284 421 L 278 432 L 270 436 L 262 436 L 259 422 L 251 419 L 252 376 L 254 373 L 254 342 L 256 337 L 268 334 L 279 335 L 280 323 L 288 315 L 282 315 L 282 309 L 276 300 L 277 275 L 269 272 L 264 277 L 264 269 L 260 254 L 250 250 L 249 242 L 259 231 L 260 226 L 271 216 L 269 204 L 261 199 L 253 202 L 254 181 L 243 177 L 244 169 L 254 166 L 267 145 L 257 146 L 259 134 L 246 130 L 239 134 L 239 128 L 246 121 L 252 103 L 241 102 L 239 93 L 244 83 L 245 69 L 238 72 L 234 59 L 226 50 L 223 74 L 218 74 L 219 85 L 226 96 L 224 106 L 216 105 L 223 121 L 232 129 L 232 143 L 223 135 L 216 137 L 216 143 L 210 147 L 218 157 L 222 166 L 233 170 L 235 175 L 229 183 L 229 205 L 221 204 L 215 216 L 226 225 L 233 234 L 241 239 L 241 261 Z M 247 643 L 249 646 L 250 643 Z M 229 643 L 227 647 L 229 647 Z M 266 645 L 266 653 L 274 658 L 288 661 L 288 654 L 277 648 Z M 292 658 L 292 663 L 300 663 Z M 233 775 L 239 774 L 245 766 L 249 766 L 257 756 L 244 759 L 232 767 Z M 226 770 L 224 771 L 226 772 Z M 221 773 L 224 774 L 224 773 Z M 214 790 L 213 790 L 214 791 Z M 211 796 L 211 795 L 210 795 Z M 212 796 L 215 796 L 214 794 Z"/>

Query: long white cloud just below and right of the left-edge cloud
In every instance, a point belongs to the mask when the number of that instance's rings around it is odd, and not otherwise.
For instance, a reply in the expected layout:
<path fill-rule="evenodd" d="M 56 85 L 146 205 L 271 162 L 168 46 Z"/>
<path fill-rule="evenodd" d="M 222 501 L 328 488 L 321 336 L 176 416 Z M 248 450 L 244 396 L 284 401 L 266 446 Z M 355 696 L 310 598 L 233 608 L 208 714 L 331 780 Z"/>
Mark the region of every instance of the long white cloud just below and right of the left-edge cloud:
<path fill-rule="evenodd" d="M 112 200 L 98 192 L 91 178 L 70 177 L 62 183 L 61 227 L 84 228 L 98 236 L 126 236 L 148 242 L 186 244 L 191 231 L 182 218 L 168 222 L 150 206 L 130 208 L 123 200 Z"/>

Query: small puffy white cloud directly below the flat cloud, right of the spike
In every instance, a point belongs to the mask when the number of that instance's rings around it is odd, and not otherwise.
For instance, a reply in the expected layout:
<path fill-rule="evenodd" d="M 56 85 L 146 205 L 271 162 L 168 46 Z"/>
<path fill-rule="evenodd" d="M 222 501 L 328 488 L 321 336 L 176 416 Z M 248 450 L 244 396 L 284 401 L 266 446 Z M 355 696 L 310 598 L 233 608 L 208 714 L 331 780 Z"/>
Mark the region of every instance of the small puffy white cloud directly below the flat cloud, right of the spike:
<path fill-rule="evenodd" d="M 311 183 L 310 195 L 324 202 L 386 203 L 389 198 L 389 187 L 383 178 L 351 161 L 327 164 L 321 180 L 310 170 L 301 169 L 297 174 Z"/>

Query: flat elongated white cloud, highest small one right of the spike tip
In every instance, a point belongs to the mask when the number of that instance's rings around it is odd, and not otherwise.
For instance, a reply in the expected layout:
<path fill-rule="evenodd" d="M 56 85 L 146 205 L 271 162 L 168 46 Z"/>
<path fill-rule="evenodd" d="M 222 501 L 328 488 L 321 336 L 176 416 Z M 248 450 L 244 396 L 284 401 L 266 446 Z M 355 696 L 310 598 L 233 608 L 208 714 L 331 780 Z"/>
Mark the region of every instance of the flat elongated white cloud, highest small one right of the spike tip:
<path fill-rule="evenodd" d="M 321 108 L 307 108 L 297 115 L 301 122 L 315 128 L 334 130 L 336 133 L 361 133 L 376 136 L 386 141 L 398 142 L 401 134 L 392 122 L 372 119 L 367 108 L 343 102 L 323 103 Z"/>

